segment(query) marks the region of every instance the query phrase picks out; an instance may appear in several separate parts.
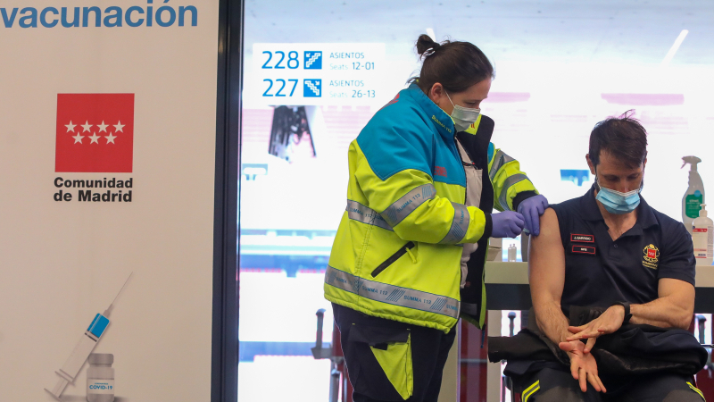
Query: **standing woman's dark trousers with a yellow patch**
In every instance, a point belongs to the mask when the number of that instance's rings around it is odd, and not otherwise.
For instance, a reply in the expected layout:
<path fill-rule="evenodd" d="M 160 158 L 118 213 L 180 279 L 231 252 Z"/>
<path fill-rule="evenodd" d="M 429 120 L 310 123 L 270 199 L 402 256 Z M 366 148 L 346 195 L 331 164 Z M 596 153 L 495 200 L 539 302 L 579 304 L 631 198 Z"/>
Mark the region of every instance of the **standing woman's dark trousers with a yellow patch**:
<path fill-rule="evenodd" d="M 454 328 L 444 333 L 334 303 L 332 309 L 354 402 L 437 401 L 446 357 L 456 336 Z"/>

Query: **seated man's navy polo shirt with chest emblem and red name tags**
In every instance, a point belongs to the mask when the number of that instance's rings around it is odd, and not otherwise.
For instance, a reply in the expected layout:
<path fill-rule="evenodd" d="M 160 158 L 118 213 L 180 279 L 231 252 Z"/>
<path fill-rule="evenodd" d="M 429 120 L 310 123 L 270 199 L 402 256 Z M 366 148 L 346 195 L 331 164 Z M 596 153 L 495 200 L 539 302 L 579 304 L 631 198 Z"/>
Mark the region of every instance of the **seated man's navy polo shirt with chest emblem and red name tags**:
<path fill-rule="evenodd" d="M 685 225 L 655 211 L 643 197 L 635 226 L 614 241 L 595 201 L 594 188 L 583 197 L 551 206 L 558 216 L 565 249 L 560 305 L 566 316 L 569 306 L 651 302 L 658 297 L 661 278 L 694 285 L 692 237 Z"/>

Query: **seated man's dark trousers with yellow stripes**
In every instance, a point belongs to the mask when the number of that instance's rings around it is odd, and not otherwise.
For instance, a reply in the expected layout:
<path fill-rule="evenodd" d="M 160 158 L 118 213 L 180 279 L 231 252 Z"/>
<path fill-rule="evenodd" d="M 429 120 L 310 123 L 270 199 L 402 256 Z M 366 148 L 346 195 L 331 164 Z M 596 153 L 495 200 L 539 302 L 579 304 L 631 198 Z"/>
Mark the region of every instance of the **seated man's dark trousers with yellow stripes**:
<path fill-rule="evenodd" d="M 587 392 L 569 371 L 543 368 L 513 381 L 511 391 L 522 402 L 702 402 L 704 397 L 689 377 L 674 373 L 655 373 L 620 378 L 615 385 L 601 378 L 607 393 L 597 392 L 588 383 Z"/>

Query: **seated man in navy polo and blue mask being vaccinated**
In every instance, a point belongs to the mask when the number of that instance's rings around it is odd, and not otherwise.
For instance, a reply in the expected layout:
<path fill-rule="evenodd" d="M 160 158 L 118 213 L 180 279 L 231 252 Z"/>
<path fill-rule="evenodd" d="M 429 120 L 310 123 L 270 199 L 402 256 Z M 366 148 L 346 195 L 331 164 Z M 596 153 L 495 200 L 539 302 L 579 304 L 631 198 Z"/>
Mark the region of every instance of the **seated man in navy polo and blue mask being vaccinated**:
<path fill-rule="evenodd" d="M 692 239 L 682 223 L 639 195 L 646 136 L 642 125 L 625 115 L 599 122 L 585 155 L 593 188 L 552 205 L 541 217 L 540 236 L 531 238 L 534 333 L 552 345 L 549 355 L 565 356 L 558 348 L 567 352 L 569 367 L 567 357 L 560 363 L 531 358 L 520 366 L 510 358 L 506 373 L 524 401 L 703 399 L 692 374 L 702 368 L 706 352 L 683 331 L 694 307 Z M 581 313 L 574 314 L 577 308 Z M 585 325 L 572 326 L 577 317 Z M 626 328 L 656 338 L 623 335 Z M 665 337 L 663 329 L 679 330 L 668 330 Z M 626 353 L 613 351 L 621 344 Z M 692 352 L 687 356 L 693 363 L 671 362 L 684 352 L 664 357 L 677 348 Z M 633 360 L 623 362 L 628 358 Z"/>

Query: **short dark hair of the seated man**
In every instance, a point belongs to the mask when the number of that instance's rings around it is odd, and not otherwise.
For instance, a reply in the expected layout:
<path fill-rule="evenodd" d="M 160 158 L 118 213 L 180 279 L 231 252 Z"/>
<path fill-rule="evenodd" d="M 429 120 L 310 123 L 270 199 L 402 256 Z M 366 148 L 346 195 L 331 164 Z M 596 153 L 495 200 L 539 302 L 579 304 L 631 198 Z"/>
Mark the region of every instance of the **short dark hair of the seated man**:
<path fill-rule="evenodd" d="M 619 117 L 610 117 L 595 124 L 590 132 L 590 160 L 600 163 L 602 151 L 607 151 L 627 167 L 636 168 L 647 157 L 647 131 L 630 110 Z"/>

